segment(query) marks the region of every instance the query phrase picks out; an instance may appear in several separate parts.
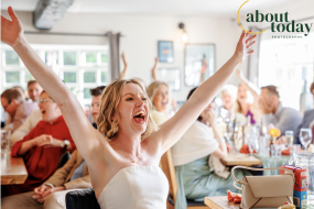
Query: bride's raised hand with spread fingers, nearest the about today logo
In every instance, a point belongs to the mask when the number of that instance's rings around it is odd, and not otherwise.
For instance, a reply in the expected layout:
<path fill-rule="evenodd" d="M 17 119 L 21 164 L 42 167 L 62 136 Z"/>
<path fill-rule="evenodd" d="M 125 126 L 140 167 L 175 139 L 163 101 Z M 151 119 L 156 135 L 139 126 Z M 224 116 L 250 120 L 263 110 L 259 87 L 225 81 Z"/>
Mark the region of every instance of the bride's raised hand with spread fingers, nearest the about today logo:
<path fill-rule="evenodd" d="M 236 52 L 235 52 L 235 56 L 241 58 L 241 64 L 243 63 L 243 61 L 246 59 L 248 55 L 255 52 L 253 50 L 251 50 L 251 47 L 256 43 L 255 41 L 256 37 L 257 35 L 250 36 L 250 33 L 246 33 L 245 31 L 242 31 L 242 34 L 240 36 L 240 40 L 237 44 Z"/>

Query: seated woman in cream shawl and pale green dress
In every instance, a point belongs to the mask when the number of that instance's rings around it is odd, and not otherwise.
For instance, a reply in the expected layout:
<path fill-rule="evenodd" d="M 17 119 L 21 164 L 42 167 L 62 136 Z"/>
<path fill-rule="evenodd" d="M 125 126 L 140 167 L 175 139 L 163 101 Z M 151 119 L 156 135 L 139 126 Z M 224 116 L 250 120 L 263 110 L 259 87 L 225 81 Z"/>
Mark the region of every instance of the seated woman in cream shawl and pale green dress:
<path fill-rule="evenodd" d="M 195 90 L 196 88 L 190 91 L 187 100 Z M 172 146 L 177 180 L 175 208 L 186 208 L 185 199 L 204 201 L 204 197 L 226 196 L 227 190 L 239 193 L 232 185 L 234 179 L 229 172 L 215 170 L 215 164 L 227 155 L 227 146 L 219 133 L 216 118 L 215 102 L 212 101 Z M 210 160 L 212 155 L 215 157 Z M 237 169 L 235 175 L 241 179 L 250 173 Z"/>

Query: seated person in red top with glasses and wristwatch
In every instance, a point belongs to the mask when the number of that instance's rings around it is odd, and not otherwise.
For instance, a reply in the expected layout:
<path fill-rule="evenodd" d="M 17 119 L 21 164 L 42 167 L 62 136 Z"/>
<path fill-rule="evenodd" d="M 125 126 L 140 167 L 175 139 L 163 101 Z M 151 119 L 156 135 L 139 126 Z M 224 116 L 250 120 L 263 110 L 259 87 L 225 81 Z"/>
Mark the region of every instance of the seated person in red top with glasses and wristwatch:
<path fill-rule="evenodd" d="M 11 150 L 12 156 L 23 157 L 28 179 L 23 185 L 2 186 L 2 197 L 32 191 L 57 169 L 65 152 L 76 148 L 57 103 L 45 91 L 40 98 L 43 120 Z"/>

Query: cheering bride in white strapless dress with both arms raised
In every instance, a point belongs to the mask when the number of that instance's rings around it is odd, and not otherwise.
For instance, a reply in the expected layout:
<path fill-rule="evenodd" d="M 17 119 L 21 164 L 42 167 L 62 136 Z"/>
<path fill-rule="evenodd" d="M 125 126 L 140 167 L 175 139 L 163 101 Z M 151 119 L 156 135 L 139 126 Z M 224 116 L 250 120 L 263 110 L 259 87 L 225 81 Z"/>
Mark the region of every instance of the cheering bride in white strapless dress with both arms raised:
<path fill-rule="evenodd" d="M 59 106 L 76 147 L 88 166 L 100 208 L 166 208 L 169 184 L 158 167 L 161 156 L 178 141 L 234 70 L 253 52 L 248 48 L 255 43 L 256 35 L 249 37 L 242 32 L 231 58 L 158 131 L 151 119 L 151 102 L 139 81 L 113 81 L 102 94 L 97 131 L 71 90 L 28 44 L 22 24 L 11 7 L 9 14 L 12 21 L 1 16 L 1 41 L 13 47 Z"/>

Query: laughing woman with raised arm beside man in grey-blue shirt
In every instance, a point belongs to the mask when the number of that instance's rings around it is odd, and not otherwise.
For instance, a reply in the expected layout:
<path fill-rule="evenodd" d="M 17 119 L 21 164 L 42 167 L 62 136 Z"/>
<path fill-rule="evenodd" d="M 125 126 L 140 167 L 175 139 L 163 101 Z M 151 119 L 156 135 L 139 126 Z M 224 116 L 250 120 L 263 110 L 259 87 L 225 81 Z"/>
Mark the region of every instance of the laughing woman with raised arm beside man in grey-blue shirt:
<path fill-rule="evenodd" d="M 241 84 L 238 87 L 236 113 L 241 113 L 245 117 L 250 116 L 250 123 L 255 124 L 261 116 L 258 103 L 260 89 L 250 82 L 240 69 L 237 69 L 237 76 Z M 252 99 L 250 99 L 251 96 Z"/>

